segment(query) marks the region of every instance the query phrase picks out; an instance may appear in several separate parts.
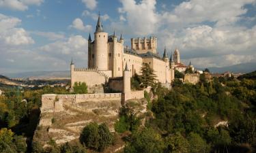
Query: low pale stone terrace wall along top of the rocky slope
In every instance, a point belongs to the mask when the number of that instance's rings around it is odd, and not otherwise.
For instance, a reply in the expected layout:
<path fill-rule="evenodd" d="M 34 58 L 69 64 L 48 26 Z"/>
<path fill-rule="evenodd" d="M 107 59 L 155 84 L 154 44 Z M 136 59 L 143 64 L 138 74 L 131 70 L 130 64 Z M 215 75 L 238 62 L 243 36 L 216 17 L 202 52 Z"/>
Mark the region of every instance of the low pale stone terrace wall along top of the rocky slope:
<path fill-rule="evenodd" d="M 42 95 L 41 112 L 61 112 L 63 103 L 82 103 L 86 101 L 121 101 L 121 93 L 83 94 L 83 95 Z"/>

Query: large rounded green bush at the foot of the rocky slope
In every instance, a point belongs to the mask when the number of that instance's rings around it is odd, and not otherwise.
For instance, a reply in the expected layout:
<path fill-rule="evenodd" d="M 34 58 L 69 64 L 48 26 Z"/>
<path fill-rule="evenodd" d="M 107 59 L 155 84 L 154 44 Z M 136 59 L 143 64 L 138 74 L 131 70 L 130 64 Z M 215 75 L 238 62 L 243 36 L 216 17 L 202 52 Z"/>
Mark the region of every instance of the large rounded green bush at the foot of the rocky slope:
<path fill-rule="evenodd" d="M 106 124 L 98 125 L 96 122 L 91 122 L 85 126 L 79 139 L 88 148 L 100 152 L 113 143 L 113 135 Z"/>

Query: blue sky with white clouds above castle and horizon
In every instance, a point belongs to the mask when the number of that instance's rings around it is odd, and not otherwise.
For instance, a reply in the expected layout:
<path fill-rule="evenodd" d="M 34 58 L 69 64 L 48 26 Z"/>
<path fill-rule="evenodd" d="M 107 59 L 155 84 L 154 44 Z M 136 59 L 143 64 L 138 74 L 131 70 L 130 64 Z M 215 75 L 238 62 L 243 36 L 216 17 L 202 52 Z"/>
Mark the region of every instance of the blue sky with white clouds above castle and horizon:
<path fill-rule="evenodd" d="M 0 73 L 87 67 L 99 12 L 128 47 L 155 36 L 195 67 L 256 62 L 256 0 L 0 0 Z"/>

